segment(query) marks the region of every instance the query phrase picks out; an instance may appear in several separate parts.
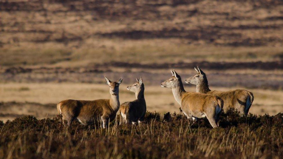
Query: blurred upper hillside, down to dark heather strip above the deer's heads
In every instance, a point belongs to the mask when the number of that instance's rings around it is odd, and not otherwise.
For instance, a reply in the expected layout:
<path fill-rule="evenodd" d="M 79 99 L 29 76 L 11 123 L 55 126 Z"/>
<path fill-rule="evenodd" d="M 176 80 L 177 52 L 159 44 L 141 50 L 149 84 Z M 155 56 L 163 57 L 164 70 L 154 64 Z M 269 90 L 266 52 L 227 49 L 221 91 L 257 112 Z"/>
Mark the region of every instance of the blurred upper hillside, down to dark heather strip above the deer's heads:
<path fill-rule="evenodd" d="M 280 61 L 283 1 L 0 0 L 0 31 L 2 66 Z"/>

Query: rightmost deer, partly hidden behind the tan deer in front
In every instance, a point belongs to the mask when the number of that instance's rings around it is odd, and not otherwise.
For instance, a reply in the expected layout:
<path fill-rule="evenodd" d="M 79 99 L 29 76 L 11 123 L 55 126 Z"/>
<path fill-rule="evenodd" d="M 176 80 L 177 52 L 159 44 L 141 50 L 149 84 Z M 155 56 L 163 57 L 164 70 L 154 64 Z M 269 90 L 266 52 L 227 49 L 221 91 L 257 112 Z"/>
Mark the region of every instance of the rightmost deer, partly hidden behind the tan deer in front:
<path fill-rule="evenodd" d="M 209 89 L 206 74 L 197 67 L 197 74 L 185 80 L 186 83 L 196 85 L 196 92 L 204 94 L 212 94 L 220 97 L 224 101 L 223 111 L 236 109 L 241 114 L 248 115 L 248 111 L 253 103 L 253 93 L 244 89 L 236 89 L 231 91 L 212 91 Z"/>

